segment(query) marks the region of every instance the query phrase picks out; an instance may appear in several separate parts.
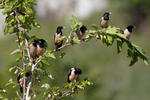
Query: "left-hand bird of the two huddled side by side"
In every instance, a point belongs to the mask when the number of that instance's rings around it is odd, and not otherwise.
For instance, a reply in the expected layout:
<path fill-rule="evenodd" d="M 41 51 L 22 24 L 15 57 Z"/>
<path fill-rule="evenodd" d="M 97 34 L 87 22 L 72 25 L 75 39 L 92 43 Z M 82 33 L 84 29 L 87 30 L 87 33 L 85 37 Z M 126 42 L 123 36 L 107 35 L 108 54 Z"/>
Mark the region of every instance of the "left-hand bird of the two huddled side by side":
<path fill-rule="evenodd" d="M 30 44 L 29 52 L 30 52 L 30 56 L 31 56 L 32 60 L 34 60 L 35 58 L 37 58 L 37 44 L 38 44 L 38 40 L 34 40 Z"/>

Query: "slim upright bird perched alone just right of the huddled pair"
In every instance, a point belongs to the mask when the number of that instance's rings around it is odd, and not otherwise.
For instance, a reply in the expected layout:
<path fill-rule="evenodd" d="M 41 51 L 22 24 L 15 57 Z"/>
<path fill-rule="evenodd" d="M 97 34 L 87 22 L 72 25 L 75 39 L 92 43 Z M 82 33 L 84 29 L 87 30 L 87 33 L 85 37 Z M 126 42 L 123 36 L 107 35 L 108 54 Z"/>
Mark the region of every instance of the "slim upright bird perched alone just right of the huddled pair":
<path fill-rule="evenodd" d="M 56 33 L 54 35 L 54 42 L 56 45 L 56 50 L 58 50 L 58 48 L 60 48 L 63 44 L 63 40 L 61 40 L 61 37 L 63 36 L 62 29 L 63 29 L 62 26 L 58 26 Z"/>

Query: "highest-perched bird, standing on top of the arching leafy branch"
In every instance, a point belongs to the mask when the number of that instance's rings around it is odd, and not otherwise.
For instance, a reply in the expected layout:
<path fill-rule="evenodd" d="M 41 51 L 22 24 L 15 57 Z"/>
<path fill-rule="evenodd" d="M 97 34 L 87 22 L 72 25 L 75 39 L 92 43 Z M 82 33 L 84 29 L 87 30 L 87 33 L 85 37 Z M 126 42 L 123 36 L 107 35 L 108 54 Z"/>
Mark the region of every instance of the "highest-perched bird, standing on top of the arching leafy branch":
<path fill-rule="evenodd" d="M 108 22 L 109 22 L 109 15 L 111 12 L 105 12 L 104 15 L 102 16 L 100 20 L 100 26 L 102 28 L 107 28 L 108 27 Z"/>

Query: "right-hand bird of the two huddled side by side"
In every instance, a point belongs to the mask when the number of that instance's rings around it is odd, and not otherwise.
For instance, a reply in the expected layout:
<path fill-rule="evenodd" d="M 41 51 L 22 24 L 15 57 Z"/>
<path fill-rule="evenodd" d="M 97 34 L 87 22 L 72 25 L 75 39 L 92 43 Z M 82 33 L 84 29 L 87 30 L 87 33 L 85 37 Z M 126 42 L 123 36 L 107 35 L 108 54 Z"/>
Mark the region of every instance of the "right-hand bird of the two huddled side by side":
<path fill-rule="evenodd" d="M 37 57 L 43 55 L 43 53 L 45 52 L 45 49 L 46 49 L 45 43 L 46 42 L 43 39 L 38 40 L 37 52 L 36 52 Z"/>

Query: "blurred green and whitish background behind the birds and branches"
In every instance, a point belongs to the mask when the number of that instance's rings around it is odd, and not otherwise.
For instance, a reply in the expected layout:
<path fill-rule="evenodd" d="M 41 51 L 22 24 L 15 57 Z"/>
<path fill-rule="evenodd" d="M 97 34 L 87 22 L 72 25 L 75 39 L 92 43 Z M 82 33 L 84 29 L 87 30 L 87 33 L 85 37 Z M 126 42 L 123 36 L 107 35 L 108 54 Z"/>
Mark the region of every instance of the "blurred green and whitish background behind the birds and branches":
<path fill-rule="evenodd" d="M 69 34 L 71 15 L 77 16 L 90 29 L 91 24 L 99 26 L 105 11 L 111 11 L 110 25 L 122 29 L 130 24 L 135 25 L 137 28 L 131 41 L 142 47 L 148 58 L 150 57 L 149 0 L 50 0 L 49 5 L 48 0 L 43 1 L 45 4 L 37 1 L 38 6 L 35 9 L 41 29 L 33 29 L 30 34 L 46 39 L 51 50 L 55 48 L 53 35 L 58 25 L 65 26 L 63 33 Z M 17 44 L 15 35 L 0 34 L 0 87 L 5 88 L 4 84 L 9 78 L 16 77 L 8 69 L 16 64 L 15 56 L 10 56 L 10 53 L 17 48 Z M 63 51 L 66 55 L 63 59 L 51 59 L 50 65 L 45 66 L 55 77 L 55 80 L 49 81 L 50 86 L 62 87 L 67 80 L 68 70 L 71 67 L 80 67 L 83 70 L 80 79 L 88 78 L 94 82 L 94 86 L 67 100 L 150 100 L 150 68 L 141 60 L 129 67 L 130 59 L 126 57 L 125 45 L 123 49 L 121 54 L 117 54 L 116 43 L 107 47 L 94 39 L 65 48 Z M 46 79 L 43 78 L 43 81 Z M 7 89 L 9 99 L 16 95 L 14 89 Z"/>

